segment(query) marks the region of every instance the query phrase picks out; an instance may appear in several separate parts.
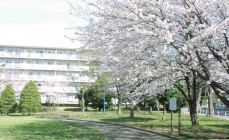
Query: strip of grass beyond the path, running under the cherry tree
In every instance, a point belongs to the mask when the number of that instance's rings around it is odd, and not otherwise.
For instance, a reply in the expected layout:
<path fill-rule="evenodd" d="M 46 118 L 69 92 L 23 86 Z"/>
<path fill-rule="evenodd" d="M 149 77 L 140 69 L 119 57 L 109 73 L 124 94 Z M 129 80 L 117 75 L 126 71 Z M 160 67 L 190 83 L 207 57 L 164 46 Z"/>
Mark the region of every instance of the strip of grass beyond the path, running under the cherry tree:
<path fill-rule="evenodd" d="M 41 114 L 42 115 L 42 114 Z M 98 111 L 80 112 L 77 108 L 61 108 L 57 111 L 42 115 L 43 117 L 66 117 L 70 119 L 104 121 L 116 124 L 130 125 L 152 130 L 159 133 L 165 133 L 182 139 L 229 139 L 229 120 L 198 116 L 200 125 L 191 126 L 190 117 L 188 114 L 182 114 L 181 136 L 178 136 L 178 119 L 174 113 L 174 133 L 170 134 L 171 121 L 170 113 L 166 114 L 166 120 L 162 121 L 161 113 L 154 112 L 149 115 L 148 112 L 142 111 L 140 114 L 135 113 L 135 118 L 129 118 L 129 111 L 123 110 L 122 115 L 118 116 L 115 111 L 107 111 L 106 113 Z"/>

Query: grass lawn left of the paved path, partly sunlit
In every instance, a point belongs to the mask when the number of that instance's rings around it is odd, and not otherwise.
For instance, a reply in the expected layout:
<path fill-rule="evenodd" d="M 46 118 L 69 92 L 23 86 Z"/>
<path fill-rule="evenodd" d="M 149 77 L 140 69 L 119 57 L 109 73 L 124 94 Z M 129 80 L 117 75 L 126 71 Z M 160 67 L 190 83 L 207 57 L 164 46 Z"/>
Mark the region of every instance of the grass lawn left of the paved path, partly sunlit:
<path fill-rule="evenodd" d="M 79 139 L 104 140 L 107 137 L 97 130 L 75 123 L 50 120 L 33 116 L 0 116 L 0 139 L 7 140 L 44 140 Z"/>

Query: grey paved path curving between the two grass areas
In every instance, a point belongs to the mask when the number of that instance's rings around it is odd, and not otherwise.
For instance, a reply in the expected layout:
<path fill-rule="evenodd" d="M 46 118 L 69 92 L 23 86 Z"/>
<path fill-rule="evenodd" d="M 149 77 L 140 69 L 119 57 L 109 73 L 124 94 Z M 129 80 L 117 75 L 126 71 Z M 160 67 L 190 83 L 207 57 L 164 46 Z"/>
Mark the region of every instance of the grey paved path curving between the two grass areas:
<path fill-rule="evenodd" d="M 172 140 L 172 138 L 135 128 L 125 127 L 121 125 L 113 125 L 108 123 L 80 121 L 80 120 L 67 120 L 76 122 L 87 127 L 95 128 L 105 135 L 110 140 Z"/>

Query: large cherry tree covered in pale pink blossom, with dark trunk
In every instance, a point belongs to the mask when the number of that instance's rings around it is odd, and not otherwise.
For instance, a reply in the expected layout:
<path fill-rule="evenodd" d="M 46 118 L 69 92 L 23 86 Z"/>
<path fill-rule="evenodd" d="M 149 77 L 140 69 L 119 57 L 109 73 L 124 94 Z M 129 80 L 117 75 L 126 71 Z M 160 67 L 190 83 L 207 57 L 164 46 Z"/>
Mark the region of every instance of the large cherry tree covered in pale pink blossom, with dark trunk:
<path fill-rule="evenodd" d="M 88 21 L 74 27 L 74 39 L 132 87 L 132 97 L 156 96 L 183 77 L 188 89 L 192 82 L 192 102 L 198 81 L 205 81 L 229 106 L 223 96 L 229 94 L 228 1 L 84 2 L 87 6 L 71 4 L 71 13 Z M 196 105 L 189 106 L 196 125 Z"/>

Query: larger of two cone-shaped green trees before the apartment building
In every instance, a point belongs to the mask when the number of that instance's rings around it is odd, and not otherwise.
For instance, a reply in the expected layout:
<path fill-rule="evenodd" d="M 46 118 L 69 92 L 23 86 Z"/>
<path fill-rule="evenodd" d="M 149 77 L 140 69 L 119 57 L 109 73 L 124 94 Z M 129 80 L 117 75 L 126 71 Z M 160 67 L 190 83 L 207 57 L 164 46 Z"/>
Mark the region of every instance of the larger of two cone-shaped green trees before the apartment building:
<path fill-rule="evenodd" d="M 33 81 L 30 81 L 22 90 L 19 107 L 22 113 L 31 114 L 37 112 L 41 107 L 41 97 L 38 88 Z"/>

